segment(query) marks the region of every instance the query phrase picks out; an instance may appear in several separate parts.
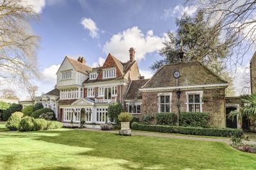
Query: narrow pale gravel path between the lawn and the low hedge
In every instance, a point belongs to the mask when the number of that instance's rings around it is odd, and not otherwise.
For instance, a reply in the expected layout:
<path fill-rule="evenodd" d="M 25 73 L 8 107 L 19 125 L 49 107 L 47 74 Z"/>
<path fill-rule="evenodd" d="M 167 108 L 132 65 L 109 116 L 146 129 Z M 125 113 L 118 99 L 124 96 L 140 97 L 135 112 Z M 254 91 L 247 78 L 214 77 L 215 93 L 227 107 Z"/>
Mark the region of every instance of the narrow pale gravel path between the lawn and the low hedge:
<path fill-rule="evenodd" d="M 88 130 L 88 131 L 94 131 L 94 132 L 107 132 L 107 133 L 114 133 L 118 134 L 118 131 L 114 130 L 106 130 L 102 131 L 100 129 L 95 128 L 76 128 L 76 130 Z M 176 139 L 189 139 L 194 141 L 212 141 L 212 142 L 221 142 L 221 143 L 227 143 L 231 144 L 232 141 L 227 139 L 214 139 L 214 138 L 205 138 L 205 137 L 190 137 L 185 135 L 170 135 L 170 134 L 154 134 L 154 133 L 144 133 L 144 132 L 132 132 L 131 135 L 149 135 L 149 136 L 157 136 L 157 137 L 166 137 L 166 138 L 176 138 Z M 256 144 L 256 141 L 242 141 L 244 144 Z"/>

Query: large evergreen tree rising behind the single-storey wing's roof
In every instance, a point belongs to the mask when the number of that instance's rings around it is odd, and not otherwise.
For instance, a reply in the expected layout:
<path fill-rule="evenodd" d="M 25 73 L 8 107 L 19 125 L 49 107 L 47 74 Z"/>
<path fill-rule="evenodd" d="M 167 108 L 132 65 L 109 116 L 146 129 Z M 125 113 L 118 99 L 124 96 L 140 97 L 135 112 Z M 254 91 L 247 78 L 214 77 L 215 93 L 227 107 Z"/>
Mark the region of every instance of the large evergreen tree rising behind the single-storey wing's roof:
<path fill-rule="evenodd" d="M 204 21 L 204 12 L 198 12 L 195 17 L 186 15 L 176 19 L 177 31 L 168 31 L 168 38 L 163 42 L 164 47 L 159 54 L 164 57 L 156 61 L 150 68 L 156 72 L 164 64 L 177 63 L 177 54 L 180 51 L 180 43 L 187 53 L 187 61 L 202 61 L 214 72 L 225 70 L 223 59 L 229 54 L 232 42 L 221 43 L 219 29 L 220 24 L 209 26 Z"/>

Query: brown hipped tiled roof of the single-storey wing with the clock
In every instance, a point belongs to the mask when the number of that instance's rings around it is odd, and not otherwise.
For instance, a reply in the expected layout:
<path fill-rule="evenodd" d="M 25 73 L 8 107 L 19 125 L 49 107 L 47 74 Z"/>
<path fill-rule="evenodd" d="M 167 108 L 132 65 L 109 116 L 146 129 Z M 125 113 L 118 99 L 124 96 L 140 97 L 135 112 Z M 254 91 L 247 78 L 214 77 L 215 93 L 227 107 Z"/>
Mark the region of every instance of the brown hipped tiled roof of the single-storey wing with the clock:
<path fill-rule="evenodd" d="M 162 66 L 142 88 L 175 86 L 173 72 L 176 70 L 180 71 L 179 86 L 227 83 L 200 61 L 191 61 Z"/>

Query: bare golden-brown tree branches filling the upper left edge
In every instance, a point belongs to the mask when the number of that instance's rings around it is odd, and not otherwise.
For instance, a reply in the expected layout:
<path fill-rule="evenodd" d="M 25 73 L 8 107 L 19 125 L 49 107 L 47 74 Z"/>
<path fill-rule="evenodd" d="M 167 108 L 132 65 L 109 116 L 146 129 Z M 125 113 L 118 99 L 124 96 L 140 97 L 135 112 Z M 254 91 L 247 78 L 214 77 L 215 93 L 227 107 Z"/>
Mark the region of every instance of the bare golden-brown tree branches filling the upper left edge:
<path fill-rule="evenodd" d="M 40 16 L 25 0 L 2 0 L 0 12 L 0 82 L 26 84 L 38 79 L 40 37 L 30 22 Z"/>

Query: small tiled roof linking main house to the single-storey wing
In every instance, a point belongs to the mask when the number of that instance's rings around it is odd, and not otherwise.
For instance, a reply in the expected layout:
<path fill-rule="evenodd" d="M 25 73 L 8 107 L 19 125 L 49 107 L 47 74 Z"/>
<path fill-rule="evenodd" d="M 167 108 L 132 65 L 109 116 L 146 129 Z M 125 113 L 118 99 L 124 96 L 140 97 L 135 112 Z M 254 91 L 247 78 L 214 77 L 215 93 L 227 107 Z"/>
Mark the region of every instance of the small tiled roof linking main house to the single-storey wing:
<path fill-rule="evenodd" d="M 141 88 L 141 86 L 143 86 L 147 81 L 148 79 L 131 81 L 125 100 L 133 100 L 134 98 L 142 99 L 139 88 Z"/>

